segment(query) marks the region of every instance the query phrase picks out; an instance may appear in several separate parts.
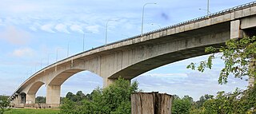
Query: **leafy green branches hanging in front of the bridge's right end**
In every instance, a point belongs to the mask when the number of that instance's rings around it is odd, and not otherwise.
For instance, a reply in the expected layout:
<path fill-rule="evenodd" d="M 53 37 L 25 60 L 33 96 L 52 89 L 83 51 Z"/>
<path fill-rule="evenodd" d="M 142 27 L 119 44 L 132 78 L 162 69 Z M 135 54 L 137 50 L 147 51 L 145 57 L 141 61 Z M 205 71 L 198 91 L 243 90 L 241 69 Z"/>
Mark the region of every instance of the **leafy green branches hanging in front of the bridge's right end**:
<path fill-rule="evenodd" d="M 226 41 L 226 45 L 221 48 L 207 47 L 206 53 L 211 53 L 207 61 L 201 61 L 199 65 L 191 63 L 187 65 L 187 69 L 198 69 L 203 72 L 205 69 L 212 68 L 212 60 L 214 53 L 222 53 L 221 59 L 225 62 L 225 67 L 221 70 L 218 83 L 226 84 L 230 74 L 234 77 L 243 78 L 244 76 L 256 77 L 255 61 L 256 61 L 256 37 L 244 37 L 237 40 Z M 250 65 L 250 63 L 252 63 Z"/>

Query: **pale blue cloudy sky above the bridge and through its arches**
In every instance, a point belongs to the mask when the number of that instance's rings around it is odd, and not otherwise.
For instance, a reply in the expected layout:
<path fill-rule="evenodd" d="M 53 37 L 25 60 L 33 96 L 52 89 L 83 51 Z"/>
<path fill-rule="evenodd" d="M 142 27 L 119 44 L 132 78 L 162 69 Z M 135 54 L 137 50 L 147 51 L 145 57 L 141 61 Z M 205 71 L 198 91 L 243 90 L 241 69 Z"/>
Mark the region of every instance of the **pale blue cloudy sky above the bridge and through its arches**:
<path fill-rule="evenodd" d="M 141 33 L 142 7 L 146 3 L 143 33 L 206 15 L 207 0 L 0 0 L 0 95 L 10 95 L 38 70 L 55 61 Z M 239 6 L 251 0 L 210 0 L 210 13 Z M 202 9 L 202 10 L 199 10 Z M 85 45 L 83 48 L 83 34 Z M 189 95 L 198 100 L 204 94 L 246 88 L 247 82 L 230 76 L 228 85 L 218 85 L 223 67 L 198 73 L 186 69 L 191 61 L 177 61 L 135 77 L 144 92 Z M 90 93 L 102 87 L 102 77 L 89 71 L 77 73 L 63 85 L 61 95 L 82 90 Z M 36 96 L 46 96 L 43 85 Z"/>

